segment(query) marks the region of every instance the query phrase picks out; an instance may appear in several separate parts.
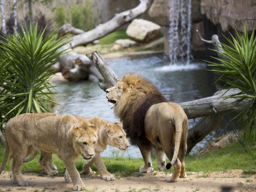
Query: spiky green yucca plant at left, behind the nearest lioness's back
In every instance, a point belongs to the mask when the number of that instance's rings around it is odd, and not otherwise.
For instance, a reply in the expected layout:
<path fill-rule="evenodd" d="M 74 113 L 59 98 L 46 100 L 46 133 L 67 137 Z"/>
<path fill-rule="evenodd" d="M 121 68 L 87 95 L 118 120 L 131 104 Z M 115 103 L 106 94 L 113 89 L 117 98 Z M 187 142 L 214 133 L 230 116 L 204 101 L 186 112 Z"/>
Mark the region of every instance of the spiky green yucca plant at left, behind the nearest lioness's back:
<path fill-rule="evenodd" d="M 49 83 L 54 71 L 48 69 L 59 60 L 67 42 L 55 40 L 56 32 L 43 38 L 45 28 L 37 34 L 38 24 L 21 34 L 6 35 L 0 42 L 0 128 L 10 118 L 22 113 L 48 112 L 54 86 Z"/>

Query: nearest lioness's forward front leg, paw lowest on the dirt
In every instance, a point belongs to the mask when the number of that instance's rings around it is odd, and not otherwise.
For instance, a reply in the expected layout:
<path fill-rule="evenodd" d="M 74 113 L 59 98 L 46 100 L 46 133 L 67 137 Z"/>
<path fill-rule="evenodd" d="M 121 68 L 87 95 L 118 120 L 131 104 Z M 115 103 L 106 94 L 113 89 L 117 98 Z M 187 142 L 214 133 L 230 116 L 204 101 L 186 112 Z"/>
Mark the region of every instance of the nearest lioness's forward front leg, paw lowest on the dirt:
<path fill-rule="evenodd" d="M 82 182 L 79 172 L 76 170 L 74 161 L 70 161 L 70 159 L 68 159 L 68 158 L 65 158 L 65 159 L 62 158 L 62 159 L 66 166 L 66 170 L 68 170 L 70 178 L 73 182 L 73 190 L 75 190 L 75 191 L 84 190 L 86 188 L 86 186 L 85 186 L 84 182 Z"/>

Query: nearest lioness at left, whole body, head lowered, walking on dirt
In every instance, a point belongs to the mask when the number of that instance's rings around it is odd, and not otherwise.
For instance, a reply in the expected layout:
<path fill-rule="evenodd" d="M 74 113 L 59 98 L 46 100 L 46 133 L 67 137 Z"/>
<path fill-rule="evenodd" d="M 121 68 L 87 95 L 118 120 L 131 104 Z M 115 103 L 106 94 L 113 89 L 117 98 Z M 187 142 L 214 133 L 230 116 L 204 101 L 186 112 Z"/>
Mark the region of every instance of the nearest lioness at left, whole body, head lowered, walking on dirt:
<path fill-rule="evenodd" d="M 21 166 L 24 158 L 32 150 L 40 148 L 45 153 L 58 152 L 70 173 L 74 190 L 86 188 L 76 170 L 74 161 L 82 155 L 85 159 L 94 157 L 98 127 L 86 119 L 73 115 L 54 113 L 22 114 L 10 119 L 6 124 L 6 147 L 0 173 L 10 156 L 11 181 L 20 186 L 30 185 L 24 180 Z M 50 170 L 50 167 L 48 167 Z"/>

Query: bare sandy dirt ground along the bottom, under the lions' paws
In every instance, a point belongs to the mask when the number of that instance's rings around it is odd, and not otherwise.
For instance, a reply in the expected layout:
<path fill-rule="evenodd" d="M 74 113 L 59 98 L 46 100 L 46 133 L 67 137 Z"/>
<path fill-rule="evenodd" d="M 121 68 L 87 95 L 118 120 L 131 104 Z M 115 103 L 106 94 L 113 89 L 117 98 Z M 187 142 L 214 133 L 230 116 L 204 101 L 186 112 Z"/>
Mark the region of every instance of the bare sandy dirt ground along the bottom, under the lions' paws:
<path fill-rule="evenodd" d="M 188 178 L 180 178 L 177 182 L 168 183 L 164 172 L 152 172 L 143 176 L 116 178 L 104 181 L 98 175 L 81 175 L 87 186 L 87 192 L 219 192 L 223 186 L 230 186 L 232 192 L 256 192 L 256 175 L 244 175 L 242 170 L 217 171 L 212 173 L 187 172 Z M 42 174 L 41 174 L 42 175 Z M 0 175 L 0 192 L 69 192 L 72 184 L 67 184 L 63 177 L 24 174 L 31 180 L 31 186 L 20 187 L 10 182 L 10 172 Z"/>

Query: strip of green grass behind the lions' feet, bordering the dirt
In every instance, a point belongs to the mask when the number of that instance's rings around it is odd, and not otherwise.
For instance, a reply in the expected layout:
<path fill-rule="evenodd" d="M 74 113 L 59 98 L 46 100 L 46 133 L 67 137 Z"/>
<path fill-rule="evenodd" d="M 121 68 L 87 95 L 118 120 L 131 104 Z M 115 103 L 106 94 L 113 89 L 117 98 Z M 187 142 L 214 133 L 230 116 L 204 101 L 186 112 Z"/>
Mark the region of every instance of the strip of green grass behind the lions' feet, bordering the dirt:
<path fill-rule="evenodd" d="M 186 157 L 186 170 L 191 172 L 204 172 L 204 177 L 207 177 L 210 172 L 213 171 L 226 171 L 230 169 L 242 169 L 244 170 L 244 177 L 256 174 L 256 150 L 252 149 L 255 143 L 252 142 L 252 137 L 244 141 L 246 148 L 242 147 L 239 142 L 232 142 L 229 146 L 204 154 L 198 158 L 194 156 Z M 247 152 L 246 152 L 247 151 Z M 2 163 L 4 157 L 4 145 L 0 144 L 0 162 Z M 36 158 L 30 162 L 26 162 L 22 165 L 22 172 L 33 172 L 39 175 L 45 175 L 38 163 L 39 154 Z M 138 168 L 144 165 L 142 158 L 102 158 L 108 171 L 114 174 L 117 178 L 127 176 L 143 176 L 138 172 Z M 58 167 L 60 176 L 64 175 L 64 163 L 53 154 L 53 160 Z M 82 172 L 84 160 L 79 158 L 76 161 L 76 168 Z M 154 169 L 157 170 L 156 159 L 152 160 Z M 5 167 L 6 171 L 10 170 L 9 162 Z M 95 166 L 92 166 L 92 170 L 97 172 Z M 165 172 L 172 172 L 165 170 Z M 82 174 L 83 176 L 83 174 Z"/>

